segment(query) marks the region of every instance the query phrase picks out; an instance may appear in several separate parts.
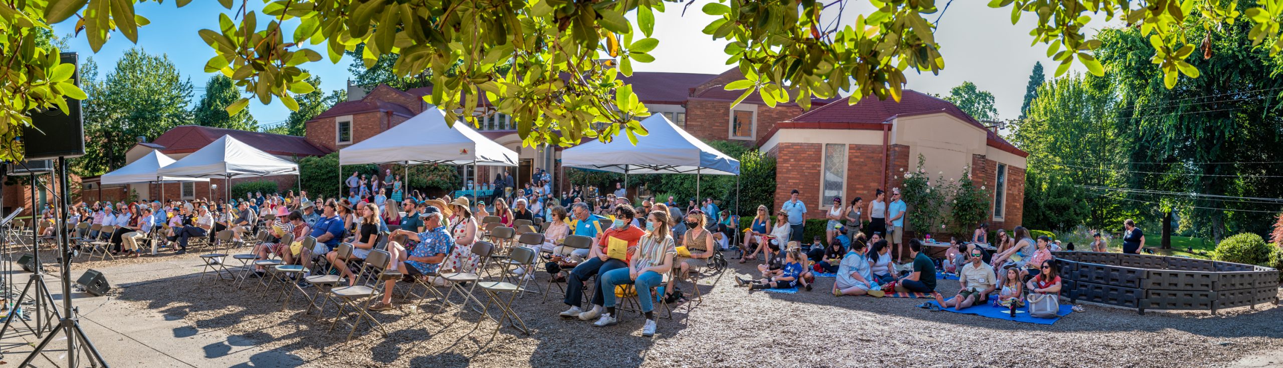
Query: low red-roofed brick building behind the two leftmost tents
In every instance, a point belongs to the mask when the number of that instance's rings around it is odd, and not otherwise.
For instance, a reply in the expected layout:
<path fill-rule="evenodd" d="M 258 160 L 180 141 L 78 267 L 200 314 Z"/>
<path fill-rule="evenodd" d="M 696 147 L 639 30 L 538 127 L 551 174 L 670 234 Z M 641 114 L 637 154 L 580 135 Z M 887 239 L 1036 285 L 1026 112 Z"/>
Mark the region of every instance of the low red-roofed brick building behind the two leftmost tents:
<path fill-rule="evenodd" d="M 145 142 L 140 141 L 130 147 L 124 154 L 126 164 L 132 163 L 153 150 L 159 150 L 160 153 L 169 155 L 173 159 L 182 159 L 187 154 L 195 153 L 201 147 L 209 145 L 210 142 L 218 140 L 223 135 L 231 135 L 232 137 L 245 142 L 255 149 L 263 150 L 268 154 L 298 162 L 302 156 L 319 156 L 326 155 L 332 149 L 325 146 L 317 146 L 310 144 L 304 137 L 299 136 L 286 136 L 286 135 L 273 135 L 263 132 L 249 132 L 239 130 L 227 128 L 214 128 L 203 126 L 178 126 L 168 132 L 164 132 L 155 141 Z M 269 177 L 246 177 L 246 178 L 234 178 L 231 185 L 237 185 L 242 182 L 255 182 L 255 181 L 272 181 L 276 182 L 277 188 L 282 192 L 290 188 L 298 187 L 296 176 L 269 176 Z M 136 183 L 136 185 L 108 185 L 103 186 L 99 177 L 86 177 L 82 180 L 82 196 L 86 201 L 92 200 L 123 200 L 131 196 L 130 191 L 137 192 L 140 199 L 159 199 L 162 192 L 166 199 L 209 199 L 217 200 L 223 199 L 226 195 L 225 188 L 227 188 L 227 180 L 223 178 L 210 178 L 209 182 L 178 182 L 178 183 Z M 216 185 L 217 188 L 210 188 L 210 185 Z M 163 188 L 162 188 L 163 186 Z"/>

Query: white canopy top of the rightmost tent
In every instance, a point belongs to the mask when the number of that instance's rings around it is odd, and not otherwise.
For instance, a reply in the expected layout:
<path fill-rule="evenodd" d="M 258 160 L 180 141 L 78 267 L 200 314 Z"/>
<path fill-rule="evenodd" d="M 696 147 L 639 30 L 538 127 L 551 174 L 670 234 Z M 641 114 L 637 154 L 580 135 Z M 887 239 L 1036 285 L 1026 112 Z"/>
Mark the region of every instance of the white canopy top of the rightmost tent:
<path fill-rule="evenodd" d="M 638 136 L 636 145 L 622 136 L 606 144 L 586 142 L 562 151 L 562 164 L 629 174 L 739 174 L 739 160 L 695 138 L 663 114 L 645 118 L 642 126 L 649 135 Z"/>

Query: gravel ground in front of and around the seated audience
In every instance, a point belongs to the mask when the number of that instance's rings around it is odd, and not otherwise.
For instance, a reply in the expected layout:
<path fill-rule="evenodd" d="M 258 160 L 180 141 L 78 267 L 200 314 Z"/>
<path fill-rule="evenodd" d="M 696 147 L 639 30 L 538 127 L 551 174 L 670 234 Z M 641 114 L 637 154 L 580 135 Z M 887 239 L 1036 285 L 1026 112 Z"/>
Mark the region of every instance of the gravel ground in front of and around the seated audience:
<path fill-rule="evenodd" d="M 326 331 L 332 305 L 327 319 L 304 315 L 296 299 L 282 312 L 275 295 L 236 290 L 228 282 L 173 277 L 113 294 L 199 330 L 226 330 L 295 354 L 309 362 L 307 367 L 1220 367 L 1283 349 L 1283 309 L 1264 305 L 1218 315 L 1137 315 L 1087 305 L 1044 326 L 928 312 L 913 308 L 925 301 L 919 299 L 834 297 L 826 292 L 833 278 L 820 278 L 811 292 L 749 294 L 730 278 L 749 269 L 733 263 L 721 277 L 701 281 L 703 301 L 693 310 L 676 308 L 671 321 L 659 319 L 654 337 L 642 337 L 636 313 L 625 313 L 618 326 L 594 328 L 557 317 L 565 309 L 559 296 L 541 304 L 538 294 L 514 303 L 531 336 L 511 327 L 494 335 L 495 323 L 475 324 L 484 319 L 477 313 L 468 310 L 455 321 L 457 309 L 438 314 L 431 300 L 411 314 L 409 301 L 394 299 L 398 309 L 372 313 L 390 336 L 362 326 L 350 342 L 344 342 L 349 330 L 341 323 Z M 547 273 L 538 281 L 543 286 Z M 956 289 L 956 281 L 938 287 Z"/>

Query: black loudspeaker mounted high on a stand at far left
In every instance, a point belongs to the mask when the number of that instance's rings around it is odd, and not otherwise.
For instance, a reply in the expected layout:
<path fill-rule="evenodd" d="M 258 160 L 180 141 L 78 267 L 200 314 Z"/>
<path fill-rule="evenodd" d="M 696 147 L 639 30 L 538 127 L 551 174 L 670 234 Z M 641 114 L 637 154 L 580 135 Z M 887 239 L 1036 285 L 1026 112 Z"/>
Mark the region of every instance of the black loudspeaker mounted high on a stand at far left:
<path fill-rule="evenodd" d="M 80 86 L 76 53 L 63 53 L 65 64 L 76 65 L 72 82 Z M 67 113 L 58 108 L 31 110 L 32 127 L 22 127 L 27 159 L 77 158 L 85 155 L 85 126 L 81 122 L 81 100 L 67 99 Z"/>

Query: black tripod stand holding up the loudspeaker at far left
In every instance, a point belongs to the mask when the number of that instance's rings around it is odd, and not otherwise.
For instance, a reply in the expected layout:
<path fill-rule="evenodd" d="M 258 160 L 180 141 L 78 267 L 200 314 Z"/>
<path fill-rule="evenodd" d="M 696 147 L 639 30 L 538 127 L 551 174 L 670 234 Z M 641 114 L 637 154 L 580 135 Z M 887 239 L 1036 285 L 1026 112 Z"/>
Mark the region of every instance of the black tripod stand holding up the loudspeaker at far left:
<path fill-rule="evenodd" d="M 59 259 L 59 263 L 62 264 L 62 273 L 63 273 L 62 274 L 62 278 L 63 278 L 62 280 L 63 281 L 63 310 L 64 310 L 65 314 L 59 314 L 59 317 L 58 317 L 58 327 L 55 327 L 54 331 L 49 332 L 49 336 L 45 336 L 45 340 L 40 341 L 40 345 L 36 345 L 36 350 L 32 350 L 31 355 L 27 355 L 27 359 L 23 359 L 22 364 L 18 364 L 18 367 L 30 367 L 31 362 L 36 359 L 36 355 L 40 355 L 41 351 L 45 351 L 45 347 L 49 346 L 49 342 L 53 342 L 54 339 L 58 339 L 58 332 L 63 332 L 65 335 L 65 337 L 67 337 L 67 367 L 68 368 L 71 368 L 71 367 L 80 367 L 78 364 L 76 364 L 76 360 L 77 360 L 77 358 L 80 355 L 80 354 L 77 354 L 77 350 L 83 350 L 85 355 L 89 355 L 89 358 L 90 358 L 89 359 L 90 367 L 99 367 L 99 364 L 101 364 L 101 367 L 109 368 L 110 365 L 108 365 L 106 360 L 103 359 L 103 354 L 98 351 L 98 347 L 94 347 L 94 342 L 91 342 L 89 340 L 89 336 L 85 335 L 85 330 L 81 328 L 81 326 L 80 326 L 80 313 L 76 310 L 76 308 L 72 308 L 72 271 L 71 271 L 71 268 L 72 268 L 72 259 L 71 259 L 71 256 L 68 256 L 68 253 L 67 253 L 67 250 L 69 249 L 69 245 L 68 245 L 68 240 L 67 240 L 67 236 L 65 236 L 65 233 L 67 233 L 67 209 L 68 209 L 68 206 L 71 206 L 71 204 L 69 204 L 69 199 L 65 196 L 65 194 L 69 192 L 69 190 L 68 190 L 67 180 L 65 180 L 67 178 L 67 160 L 63 156 L 58 158 L 58 171 L 59 171 L 59 174 L 63 177 L 62 190 L 63 190 L 63 194 L 64 194 L 64 196 L 62 196 L 62 197 L 58 199 L 58 206 L 62 208 L 62 212 L 59 214 L 59 222 L 58 222 L 56 226 L 58 226 L 59 233 L 62 233 L 62 236 L 58 237 L 58 250 L 63 255 L 62 259 Z M 35 276 L 32 276 L 32 277 L 35 277 Z M 44 283 L 41 283 L 41 285 L 44 285 Z M 80 344 L 80 349 L 77 349 L 77 344 Z"/>

